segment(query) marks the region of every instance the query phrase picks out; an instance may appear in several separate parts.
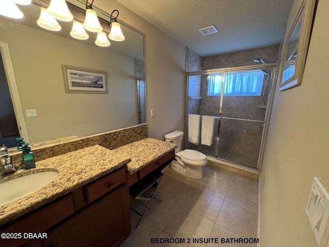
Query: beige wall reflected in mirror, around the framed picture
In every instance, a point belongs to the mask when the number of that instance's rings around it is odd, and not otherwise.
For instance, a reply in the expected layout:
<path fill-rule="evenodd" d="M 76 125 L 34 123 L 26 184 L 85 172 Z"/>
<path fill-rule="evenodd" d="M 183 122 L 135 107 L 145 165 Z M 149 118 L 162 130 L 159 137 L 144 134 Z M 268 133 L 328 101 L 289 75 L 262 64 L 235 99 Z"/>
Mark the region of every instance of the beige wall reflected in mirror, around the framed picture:
<path fill-rule="evenodd" d="M 135 125 L 134 59 L 2 21 L 31 143 Z M 62 64 L 102 70 L 108 94 L 65 93 Z M 36 109 L 37 117 L 26 117 Z"/>

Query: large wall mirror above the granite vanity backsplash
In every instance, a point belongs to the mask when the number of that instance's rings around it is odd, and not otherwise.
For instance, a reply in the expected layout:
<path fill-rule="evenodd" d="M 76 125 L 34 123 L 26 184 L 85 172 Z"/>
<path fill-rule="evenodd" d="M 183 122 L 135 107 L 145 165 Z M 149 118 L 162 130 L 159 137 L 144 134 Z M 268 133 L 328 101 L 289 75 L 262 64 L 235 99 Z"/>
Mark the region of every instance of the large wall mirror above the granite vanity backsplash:
<path fill-rule="evenodd" d="M 40 28 L 36 20 L 41 1 L 32 2 L 19 6 L 23 19 L 0 16 L 0 145 L 16 145 L 14 137 L 20 133 L 30 143 L 39 143 L 145 122 L 143 34 L 121 22 L 125 40 L 99 47 L 96 33 L 88 32 L 85 41 L 71 38 L 72 22 L 59 21 L 59 32 Z M 79 0 L 68 2 L 84 8 Z M 105 72 L 108 92 L 66 93 L 62 65 Z M 13 106 L 15 99 L 20 110 Z M 34 109 L 36 116 L 27 116 L 31 112 L 26 110 Z M 17 115 L 24 119 L 22 129 L 15 125 Z"/>

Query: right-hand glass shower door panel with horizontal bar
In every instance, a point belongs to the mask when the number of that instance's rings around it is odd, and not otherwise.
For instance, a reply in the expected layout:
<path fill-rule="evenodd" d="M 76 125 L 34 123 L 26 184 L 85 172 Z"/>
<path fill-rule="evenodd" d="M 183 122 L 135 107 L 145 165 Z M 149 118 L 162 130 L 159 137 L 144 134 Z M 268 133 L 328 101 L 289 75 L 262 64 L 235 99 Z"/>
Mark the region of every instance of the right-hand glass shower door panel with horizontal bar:
<path fill-rule="evenodd" d="M 257 168 L 271 69 L 225 73 L 217 158 Z"/>

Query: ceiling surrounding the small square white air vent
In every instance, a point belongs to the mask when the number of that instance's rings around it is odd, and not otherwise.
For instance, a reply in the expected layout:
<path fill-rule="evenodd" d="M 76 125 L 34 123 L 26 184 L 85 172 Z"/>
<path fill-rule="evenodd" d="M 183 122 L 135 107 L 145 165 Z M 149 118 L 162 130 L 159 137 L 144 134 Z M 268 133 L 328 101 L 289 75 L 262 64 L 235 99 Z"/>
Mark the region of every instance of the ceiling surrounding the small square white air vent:
<path fill-rule="evenodd" d="M 202 57 L 279 45 L 294 0 L 117 0 Z M 197 29 L 214 25 L 218 33 Z"/>

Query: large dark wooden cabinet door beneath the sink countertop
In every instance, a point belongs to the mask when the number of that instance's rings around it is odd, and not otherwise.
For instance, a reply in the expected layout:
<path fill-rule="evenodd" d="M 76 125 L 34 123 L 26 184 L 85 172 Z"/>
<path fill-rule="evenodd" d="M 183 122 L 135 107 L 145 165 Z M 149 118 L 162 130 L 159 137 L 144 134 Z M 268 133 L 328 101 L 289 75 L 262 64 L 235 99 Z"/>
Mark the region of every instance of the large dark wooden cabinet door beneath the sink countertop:
<path fill-rule="evenodd" d="M 49 232 L 46 246 L 119 246 L 130 235 L 127 185 Z"/>

